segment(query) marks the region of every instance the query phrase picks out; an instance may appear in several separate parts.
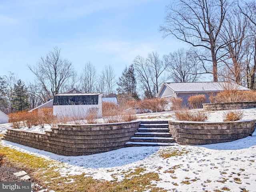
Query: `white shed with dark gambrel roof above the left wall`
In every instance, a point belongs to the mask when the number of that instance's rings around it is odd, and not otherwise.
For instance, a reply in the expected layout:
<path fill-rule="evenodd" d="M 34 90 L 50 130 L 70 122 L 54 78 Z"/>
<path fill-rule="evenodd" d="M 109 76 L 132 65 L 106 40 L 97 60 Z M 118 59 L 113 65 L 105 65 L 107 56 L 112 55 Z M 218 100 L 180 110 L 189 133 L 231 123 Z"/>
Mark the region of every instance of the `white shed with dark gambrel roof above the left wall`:
<path fill-rule="evenodd" d="M 102 95 L 103 93 L 56 94 L 53 99 L 53 114 L 84 116 L 90 108 L 98 108 L 98 116 L 102 117 Z"/>

